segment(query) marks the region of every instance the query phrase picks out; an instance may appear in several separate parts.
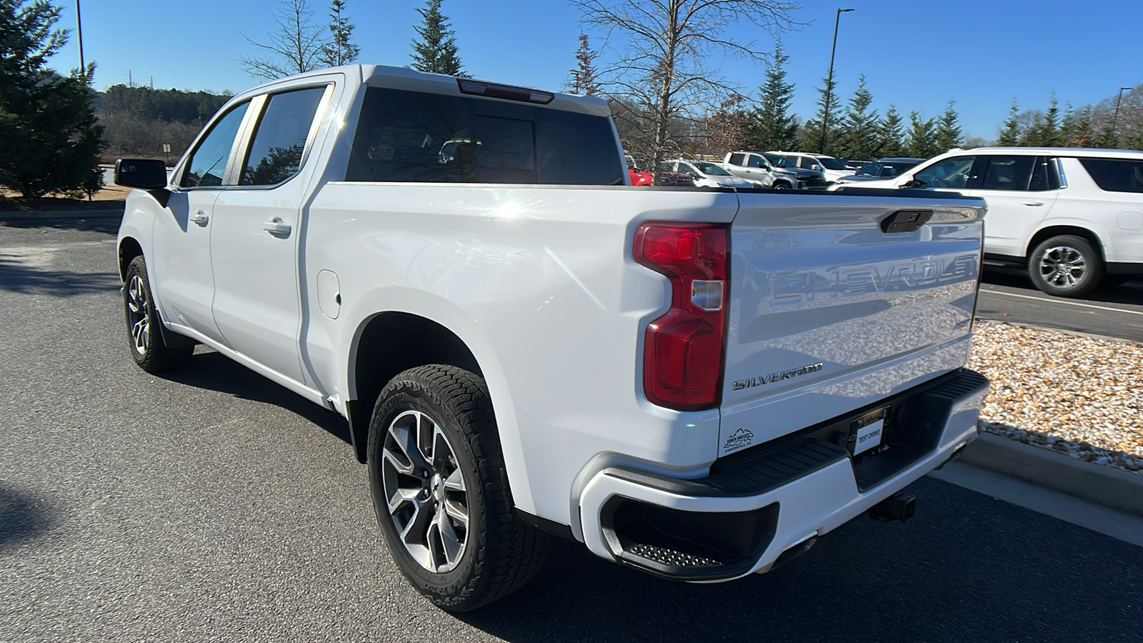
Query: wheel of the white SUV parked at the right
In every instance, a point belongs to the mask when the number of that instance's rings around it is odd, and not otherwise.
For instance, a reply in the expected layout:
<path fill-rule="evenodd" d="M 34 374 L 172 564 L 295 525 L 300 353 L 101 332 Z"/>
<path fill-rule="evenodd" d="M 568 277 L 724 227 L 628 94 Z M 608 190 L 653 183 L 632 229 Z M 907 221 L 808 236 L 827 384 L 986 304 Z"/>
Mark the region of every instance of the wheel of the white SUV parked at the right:
<path fill-rule="evenodd" d="M 1061 235 L 1036 246 L 1028 275 L 1040 291 L 1057 297 L 1080 297 L 1100 286 L 1106 267 L 1090 241 Z"/>

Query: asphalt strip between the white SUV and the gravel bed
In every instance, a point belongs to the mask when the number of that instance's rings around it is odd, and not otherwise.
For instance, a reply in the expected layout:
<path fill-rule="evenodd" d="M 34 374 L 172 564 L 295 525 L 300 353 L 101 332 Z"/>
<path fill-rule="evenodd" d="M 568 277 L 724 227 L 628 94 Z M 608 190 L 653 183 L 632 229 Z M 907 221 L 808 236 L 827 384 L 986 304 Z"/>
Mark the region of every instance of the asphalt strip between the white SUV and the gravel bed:
<path fill-rule="evenodd" d="M 1041 293 L 1021 271 L 986 267 L 976 316 L 1143 342 L 1143 280 L 1063 299 Z"/>

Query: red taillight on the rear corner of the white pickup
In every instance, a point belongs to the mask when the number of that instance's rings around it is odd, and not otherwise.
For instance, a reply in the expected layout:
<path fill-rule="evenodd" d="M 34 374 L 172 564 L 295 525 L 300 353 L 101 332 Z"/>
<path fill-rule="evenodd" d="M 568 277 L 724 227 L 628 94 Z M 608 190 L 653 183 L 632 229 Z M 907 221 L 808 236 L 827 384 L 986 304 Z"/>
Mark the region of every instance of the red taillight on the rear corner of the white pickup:
<path fill-rule="evenodd" d="M 636 261 L 671 280 L 671 310 L 647 326 L 644 392 L 679 411 L 718 406 L 726 335 L 727 228 L 645 223 Z"/>

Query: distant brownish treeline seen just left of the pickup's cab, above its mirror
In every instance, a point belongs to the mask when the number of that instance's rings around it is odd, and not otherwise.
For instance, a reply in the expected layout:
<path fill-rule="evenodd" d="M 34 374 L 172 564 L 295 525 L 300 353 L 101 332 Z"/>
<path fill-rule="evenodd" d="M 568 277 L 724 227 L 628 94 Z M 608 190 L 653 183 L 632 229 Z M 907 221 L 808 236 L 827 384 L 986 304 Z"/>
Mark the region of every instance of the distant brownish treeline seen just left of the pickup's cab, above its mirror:
<path fill-rule="evenodd" d="M 113 85 L 95 102 L 104 127 L 105 162 L 117 158 L 158 158 L 174 162 L 186 151 L 230 94 Z M 170 145 L 170 152 L 162 146 Z"/>

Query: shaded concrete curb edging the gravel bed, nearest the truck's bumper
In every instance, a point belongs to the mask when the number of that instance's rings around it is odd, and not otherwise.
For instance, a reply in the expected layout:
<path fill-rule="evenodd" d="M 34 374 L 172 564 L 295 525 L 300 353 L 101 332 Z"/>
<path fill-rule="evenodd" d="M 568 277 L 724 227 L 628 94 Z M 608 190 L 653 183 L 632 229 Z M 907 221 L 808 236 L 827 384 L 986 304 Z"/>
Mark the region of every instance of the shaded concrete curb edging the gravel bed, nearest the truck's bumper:
<path fill-rule="evenodd" d="M 1143 517 L 1143 475 L 982 432 L 960 461 Z"/>

